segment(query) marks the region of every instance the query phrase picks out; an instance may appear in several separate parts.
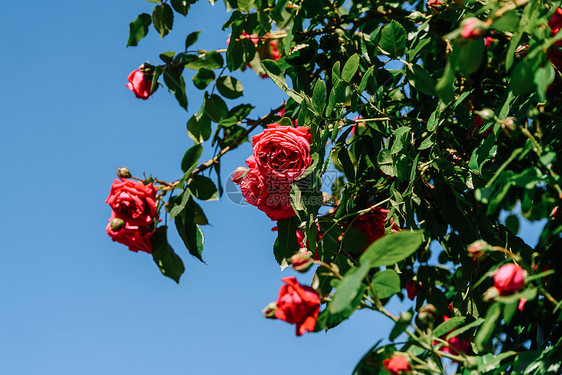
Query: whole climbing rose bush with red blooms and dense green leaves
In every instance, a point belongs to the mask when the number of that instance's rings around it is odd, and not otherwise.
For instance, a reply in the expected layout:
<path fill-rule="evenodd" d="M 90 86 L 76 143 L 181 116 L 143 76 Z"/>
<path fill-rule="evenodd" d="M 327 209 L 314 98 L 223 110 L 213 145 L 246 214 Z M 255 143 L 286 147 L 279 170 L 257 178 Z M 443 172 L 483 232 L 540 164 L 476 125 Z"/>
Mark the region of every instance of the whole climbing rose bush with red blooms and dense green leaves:
<path fill-rule="evenodd" d="M 152 26 L 164 38 L 196 1 L 149 0 L 127 45 Z M 281 267 L 314 273 L 310 286 L 284 278 L 266 317 L 302 335 L 357 309 L 386 315 L 394 328 L 355 374 L 560 373 L 560 3 L 225 0 L 225 49 L 195 48 L 194 30 L 129 76 L 138 98 L 164 85 L 186 110 L 186 90 L 204 101 L 189 108 L 178 180 L 118 171 L 108 234 L 178 282 L 159 217 L 203 261 L 202 202 L 223 194 L 221 158 L 251 141 L 231 179 L 277 220 Z M 287 101 L 255 114 L 247 68 Z M 216 154 L 201 162 L 204 146 Z M 521 218 L 544 219 L 534 247 Z M 406 293 L 415 305 L 394 316 L 386 304 Z"/>

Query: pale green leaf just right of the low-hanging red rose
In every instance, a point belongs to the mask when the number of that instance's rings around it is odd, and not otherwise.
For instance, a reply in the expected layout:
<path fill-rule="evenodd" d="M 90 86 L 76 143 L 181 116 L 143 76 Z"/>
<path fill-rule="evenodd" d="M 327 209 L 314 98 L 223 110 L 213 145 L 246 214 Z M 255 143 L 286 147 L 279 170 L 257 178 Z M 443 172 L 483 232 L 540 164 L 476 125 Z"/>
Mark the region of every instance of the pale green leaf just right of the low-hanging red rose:
<path fill-rule="evenodd" d="M 336 288 L 333 299 L 328 304 L 330 314 L 339 314 L 353 311 L 352 302 L 361 291 L 363 279 L 369 273 L 371 265 L 369 260 L 361 262 L 359 268 L 352 268 L 345 274 L 345 277 Z"/>

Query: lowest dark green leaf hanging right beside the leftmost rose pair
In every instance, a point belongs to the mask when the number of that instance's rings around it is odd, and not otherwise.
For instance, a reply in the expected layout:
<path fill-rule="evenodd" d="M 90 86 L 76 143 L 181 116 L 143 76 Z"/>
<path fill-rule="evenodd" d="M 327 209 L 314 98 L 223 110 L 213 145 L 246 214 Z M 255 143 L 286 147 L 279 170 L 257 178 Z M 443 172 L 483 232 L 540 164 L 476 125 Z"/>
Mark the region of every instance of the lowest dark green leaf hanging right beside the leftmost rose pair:
<path fill-rule="evenodd" d="M 164 276 L 179 284 L 185 266 L 168 243 L 167 229 L 165 226 L 156 229 L 152 239 L 152 259 Z"/>

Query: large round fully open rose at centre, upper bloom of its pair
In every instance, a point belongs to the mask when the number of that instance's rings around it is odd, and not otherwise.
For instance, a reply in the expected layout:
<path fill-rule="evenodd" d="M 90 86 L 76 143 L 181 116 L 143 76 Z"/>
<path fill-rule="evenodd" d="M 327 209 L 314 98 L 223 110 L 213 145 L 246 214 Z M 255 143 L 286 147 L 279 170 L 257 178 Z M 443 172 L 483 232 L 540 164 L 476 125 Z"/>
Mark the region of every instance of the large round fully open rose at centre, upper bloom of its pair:
<path fill-rule="evenodd" d="M 253 153 L 262 176 L 290 183 L 312 164 L 310 128 L 269 125 L 252 138 Z"/>

